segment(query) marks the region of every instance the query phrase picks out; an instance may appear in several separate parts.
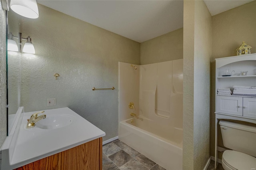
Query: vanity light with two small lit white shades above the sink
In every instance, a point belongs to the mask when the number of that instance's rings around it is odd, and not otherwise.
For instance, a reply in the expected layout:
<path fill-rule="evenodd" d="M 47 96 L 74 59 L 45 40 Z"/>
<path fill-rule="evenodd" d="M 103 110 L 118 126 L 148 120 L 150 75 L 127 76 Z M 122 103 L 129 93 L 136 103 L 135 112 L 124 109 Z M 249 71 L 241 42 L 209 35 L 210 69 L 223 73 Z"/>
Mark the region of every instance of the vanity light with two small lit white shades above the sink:
<path fill-rule="evenodd" d="M 17 43 L 13 40 L 13 38 L 18 39 L 19 46 L 17 46 Z M 19 32 L 19 36 L 14 36 L 11 32 L 10 32 L 10 34 L 8 34 L 7 50 L 8 51 L 19 51 L 22 53 L 22 40 L 27 41 L 23 46 L 24 53 L 30 53 L 30 54 L 36 53 L 34 45 L 31 42 L 30 36 L 28 36 L 28 38 L 22 38 L 21 32 Z"/>

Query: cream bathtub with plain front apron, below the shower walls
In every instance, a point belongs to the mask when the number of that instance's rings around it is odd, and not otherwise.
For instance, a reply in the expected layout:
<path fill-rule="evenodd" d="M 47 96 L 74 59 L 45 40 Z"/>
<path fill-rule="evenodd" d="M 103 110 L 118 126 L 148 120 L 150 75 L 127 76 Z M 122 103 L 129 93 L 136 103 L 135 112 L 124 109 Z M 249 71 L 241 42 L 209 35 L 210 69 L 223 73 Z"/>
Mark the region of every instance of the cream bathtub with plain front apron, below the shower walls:
<path fill-rule="evenodd" d="M 128 119 L 119 123 L 118 137 L 167 170 L 182 170 L 182 129 L 160 126 L 144 117 Z"/>

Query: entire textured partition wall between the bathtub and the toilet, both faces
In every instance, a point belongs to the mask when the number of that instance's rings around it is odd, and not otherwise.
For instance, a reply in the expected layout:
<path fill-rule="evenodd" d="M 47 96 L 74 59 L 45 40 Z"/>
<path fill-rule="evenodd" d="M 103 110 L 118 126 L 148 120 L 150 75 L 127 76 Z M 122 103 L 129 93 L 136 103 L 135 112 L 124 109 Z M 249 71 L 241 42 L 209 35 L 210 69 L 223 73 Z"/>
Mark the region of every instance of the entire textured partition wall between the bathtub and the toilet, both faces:
<path fill-rule="evenodd" d="M 204 169 L 210 157 L 211 20 L 204 1 L 184 1 L 184 170 Z"/>

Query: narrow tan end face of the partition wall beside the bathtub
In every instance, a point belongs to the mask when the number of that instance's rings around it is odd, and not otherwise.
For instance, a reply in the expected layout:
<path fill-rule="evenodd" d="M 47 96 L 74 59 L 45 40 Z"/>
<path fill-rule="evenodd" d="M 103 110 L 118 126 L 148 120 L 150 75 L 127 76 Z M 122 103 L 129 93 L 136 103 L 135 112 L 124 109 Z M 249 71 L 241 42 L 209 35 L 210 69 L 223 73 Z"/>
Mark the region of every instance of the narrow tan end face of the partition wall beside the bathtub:
<path fill-rule="evenodd" d="M 183 18 L 183 170 L 194 167 L 194 13 L 195 2 L 184 1 Z"/>

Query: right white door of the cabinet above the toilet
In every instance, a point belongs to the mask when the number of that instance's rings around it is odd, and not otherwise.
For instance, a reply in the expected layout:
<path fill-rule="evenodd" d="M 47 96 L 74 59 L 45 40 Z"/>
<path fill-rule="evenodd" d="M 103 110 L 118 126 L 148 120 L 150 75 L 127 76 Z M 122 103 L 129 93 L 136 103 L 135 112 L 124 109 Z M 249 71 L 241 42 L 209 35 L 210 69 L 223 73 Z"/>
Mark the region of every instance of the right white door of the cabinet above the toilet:
<path fill-rule="evenodd" d="M 243 116 L 256 118 L 256 98 L 244 97 Z"/>

